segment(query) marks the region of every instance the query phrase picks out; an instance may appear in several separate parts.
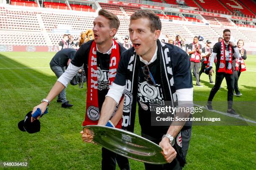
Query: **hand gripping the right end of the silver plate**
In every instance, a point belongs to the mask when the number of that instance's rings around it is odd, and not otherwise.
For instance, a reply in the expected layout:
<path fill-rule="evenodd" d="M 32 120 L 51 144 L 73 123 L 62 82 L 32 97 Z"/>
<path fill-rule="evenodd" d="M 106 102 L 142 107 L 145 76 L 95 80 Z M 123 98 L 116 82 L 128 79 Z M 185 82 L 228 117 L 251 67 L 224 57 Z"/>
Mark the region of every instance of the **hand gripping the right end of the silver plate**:
<path fill-rule="evenodd" d="M 168 138 L 163 138 L 159 143 L 159 146 L 163 149 L 161 152 L 164 155 L 164 158 L 168 163 L 171 163 L 172 160 L 176 158 L 177 152 L 172 147 Z"/>

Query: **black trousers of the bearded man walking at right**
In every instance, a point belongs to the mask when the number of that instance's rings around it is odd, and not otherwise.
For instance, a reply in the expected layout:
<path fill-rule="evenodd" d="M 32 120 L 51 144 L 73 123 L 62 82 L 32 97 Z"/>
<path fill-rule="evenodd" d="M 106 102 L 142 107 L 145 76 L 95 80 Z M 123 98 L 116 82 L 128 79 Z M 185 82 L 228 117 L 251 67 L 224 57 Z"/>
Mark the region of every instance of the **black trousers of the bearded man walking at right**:
<path fill-rule="evenodd" d="M 212 87 L 212 90 L 210 91 L 210 95 L 208 97 L 208 103 L 212 103 L 212 99 L 215 96 L 216 92 L 220 89 L 220 85 L 222 80 L 226 79 L 227 86 L 228 86 L 228 109 L 232 108 L 233 105 L 233 91 L 234 91 L 234 73 L 233 74 L 226 74 L 223 72 L 216 72 L 215 77 L 215 85 Z"/>

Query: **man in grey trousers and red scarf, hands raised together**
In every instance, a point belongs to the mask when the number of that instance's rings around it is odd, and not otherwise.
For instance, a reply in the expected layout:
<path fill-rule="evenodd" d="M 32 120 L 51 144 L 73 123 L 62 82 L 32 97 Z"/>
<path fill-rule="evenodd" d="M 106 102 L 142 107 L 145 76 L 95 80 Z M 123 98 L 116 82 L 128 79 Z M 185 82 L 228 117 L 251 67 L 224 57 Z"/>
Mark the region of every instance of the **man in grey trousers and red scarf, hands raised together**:
<path fill-rule="evenodd" d="M 199 69 L 200 69 L 200 60 L 202 53 L 202 45 L 198 43 L 198 37 L 195 36 L 194 40 L 188 46 L 188 53 L 190 57 L 190 69 L 192 70 L 195 67 L 195 78 L 196 78 L 196 86 L 203 87 L 199 82 Z"/>

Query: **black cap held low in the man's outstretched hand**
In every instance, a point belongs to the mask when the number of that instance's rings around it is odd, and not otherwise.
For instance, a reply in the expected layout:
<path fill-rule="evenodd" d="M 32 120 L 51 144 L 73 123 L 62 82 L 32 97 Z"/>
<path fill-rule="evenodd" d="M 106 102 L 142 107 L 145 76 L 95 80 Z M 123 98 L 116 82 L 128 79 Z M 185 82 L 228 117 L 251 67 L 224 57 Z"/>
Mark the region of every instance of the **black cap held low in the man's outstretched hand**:
<path fill-rule="evenodd" d="M 40 131 L 40 122 L 39 120 L 31 122 L 31 113 L 32 111 L 28 112 L 24 120 L 21 120 L 18 123 L 18 128 L 23 132 L 27 131 L 28 133 L 36 133 Z"/>

